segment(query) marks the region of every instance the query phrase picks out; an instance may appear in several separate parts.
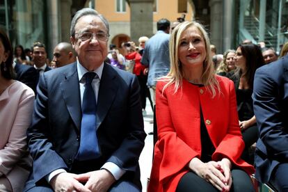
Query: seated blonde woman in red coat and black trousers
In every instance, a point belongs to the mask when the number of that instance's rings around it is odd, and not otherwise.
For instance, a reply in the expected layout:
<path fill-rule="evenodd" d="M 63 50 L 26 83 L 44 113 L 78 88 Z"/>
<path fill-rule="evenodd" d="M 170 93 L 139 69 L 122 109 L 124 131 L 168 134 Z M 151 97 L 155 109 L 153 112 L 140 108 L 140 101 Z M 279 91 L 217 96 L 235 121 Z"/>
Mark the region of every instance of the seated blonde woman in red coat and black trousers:
<path fill-rule="evenodd" d="M 209 38 L 197 22 L 170 37 L 170 72 L 156 92 L 158 141 L 148 191 L 254 191 L 234 84 L 214 73 Z"/>

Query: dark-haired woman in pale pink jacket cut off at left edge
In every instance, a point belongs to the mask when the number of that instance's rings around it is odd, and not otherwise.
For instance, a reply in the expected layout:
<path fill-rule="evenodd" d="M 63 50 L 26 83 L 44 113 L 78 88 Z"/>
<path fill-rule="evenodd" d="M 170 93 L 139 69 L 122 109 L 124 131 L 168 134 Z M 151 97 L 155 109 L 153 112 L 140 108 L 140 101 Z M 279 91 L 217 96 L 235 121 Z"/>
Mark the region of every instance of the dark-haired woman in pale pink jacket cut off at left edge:
<path fill-rule="evenodd" d="M 34 93 L 24 83 L 13 80 L 13 49 L 0 29 L 0 191 L 22 191 L 32 159 L 26 143 Z"/>

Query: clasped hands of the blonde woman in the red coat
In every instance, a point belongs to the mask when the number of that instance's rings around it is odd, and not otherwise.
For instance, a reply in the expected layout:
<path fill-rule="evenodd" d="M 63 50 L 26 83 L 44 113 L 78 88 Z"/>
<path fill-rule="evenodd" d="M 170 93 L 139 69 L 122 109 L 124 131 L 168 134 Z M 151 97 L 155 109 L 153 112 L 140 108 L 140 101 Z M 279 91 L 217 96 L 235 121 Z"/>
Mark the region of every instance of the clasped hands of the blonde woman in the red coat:
<path fill-rule="evenodd" d="M 228 163 L 226 161 L 209 161 L 208 163 L 203 163 L 197 157 L 193 158 L 189 162 L 189 168 L 193 170 L 199 177 L 202 177 L 207 182 L 211 183 L 219 191 L 229 191 L 230 187 L 227 187 L 227 179 L 230 171 L 228 168 Z M 227 177 L 226 177 L 226 175 Z"/>

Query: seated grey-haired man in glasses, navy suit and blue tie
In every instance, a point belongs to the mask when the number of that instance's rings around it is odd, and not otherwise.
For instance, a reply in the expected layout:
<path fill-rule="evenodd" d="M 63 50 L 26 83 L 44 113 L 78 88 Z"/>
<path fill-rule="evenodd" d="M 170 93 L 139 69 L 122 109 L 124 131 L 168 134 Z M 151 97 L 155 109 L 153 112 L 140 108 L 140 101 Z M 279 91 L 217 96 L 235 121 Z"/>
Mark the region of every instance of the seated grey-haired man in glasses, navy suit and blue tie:
<path fill-rule="evenodd" d="M 109 24 L 95 10 L 79 10 L 70 33 L 77 62 L 40 76 L 25 191 L 141 191 L 146 134 L 137 78 L 104 63 Z"/>

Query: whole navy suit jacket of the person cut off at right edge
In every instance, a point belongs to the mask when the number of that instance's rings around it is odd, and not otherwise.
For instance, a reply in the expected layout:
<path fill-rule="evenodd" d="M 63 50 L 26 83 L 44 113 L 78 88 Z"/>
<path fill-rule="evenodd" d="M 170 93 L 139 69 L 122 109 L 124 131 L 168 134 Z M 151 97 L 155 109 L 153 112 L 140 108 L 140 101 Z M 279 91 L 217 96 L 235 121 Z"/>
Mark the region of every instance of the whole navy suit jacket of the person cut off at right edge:
<path fill-rule="evenodd" d="M 288 161 L 288 56 L 256 71 L 253 102 L 259 127 L 255 176 L 266 183 L 275 166 Z"/>

